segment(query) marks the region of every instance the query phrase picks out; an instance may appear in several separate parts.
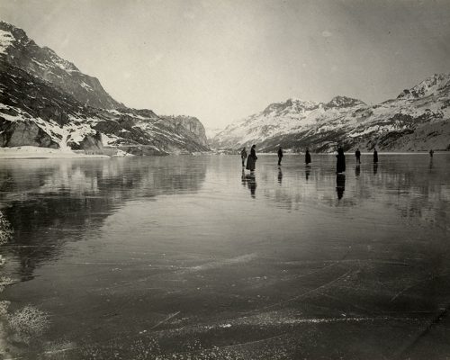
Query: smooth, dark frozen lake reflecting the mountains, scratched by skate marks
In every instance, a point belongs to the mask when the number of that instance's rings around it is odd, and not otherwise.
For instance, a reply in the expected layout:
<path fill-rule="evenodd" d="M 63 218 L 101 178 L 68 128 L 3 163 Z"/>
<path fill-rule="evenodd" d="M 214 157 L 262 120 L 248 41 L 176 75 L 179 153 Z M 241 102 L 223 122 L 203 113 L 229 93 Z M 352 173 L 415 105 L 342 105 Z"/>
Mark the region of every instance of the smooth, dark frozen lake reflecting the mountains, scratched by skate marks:
<path fill-rule="evenodd" d="M 276 161 L 0 160 L 0 357 L 450 356 L 450 154 Z"/>

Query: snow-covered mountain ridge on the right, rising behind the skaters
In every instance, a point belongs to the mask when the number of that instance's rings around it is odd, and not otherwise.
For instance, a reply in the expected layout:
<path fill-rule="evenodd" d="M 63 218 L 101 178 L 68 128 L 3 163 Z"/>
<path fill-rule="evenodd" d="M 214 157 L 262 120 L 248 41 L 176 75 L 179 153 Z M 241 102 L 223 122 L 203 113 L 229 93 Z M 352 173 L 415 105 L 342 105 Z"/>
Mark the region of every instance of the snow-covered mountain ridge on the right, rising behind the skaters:
<path fill-rule="evenodd" d="M 213 148 L 238 149 L 257 144 L 277 147 L 425 150 L 450 148 L 450 74 L 430 76 L 396 99 L 369 106 L 346 96 L 329 103 L 289 99 L 231 123 L 211 139 Z"/>

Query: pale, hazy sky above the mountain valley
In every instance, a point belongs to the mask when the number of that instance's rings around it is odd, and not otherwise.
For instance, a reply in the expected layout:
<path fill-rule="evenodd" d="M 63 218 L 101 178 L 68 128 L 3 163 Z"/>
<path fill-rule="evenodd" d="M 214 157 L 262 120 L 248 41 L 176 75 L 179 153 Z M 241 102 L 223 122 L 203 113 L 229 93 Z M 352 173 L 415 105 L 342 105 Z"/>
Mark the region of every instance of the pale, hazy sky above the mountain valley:
<path fill-rule="evenodd" d="M 0 18 L 127 106 L 210 128 L 450 72 L 450 0 L 0 0 Z"/>

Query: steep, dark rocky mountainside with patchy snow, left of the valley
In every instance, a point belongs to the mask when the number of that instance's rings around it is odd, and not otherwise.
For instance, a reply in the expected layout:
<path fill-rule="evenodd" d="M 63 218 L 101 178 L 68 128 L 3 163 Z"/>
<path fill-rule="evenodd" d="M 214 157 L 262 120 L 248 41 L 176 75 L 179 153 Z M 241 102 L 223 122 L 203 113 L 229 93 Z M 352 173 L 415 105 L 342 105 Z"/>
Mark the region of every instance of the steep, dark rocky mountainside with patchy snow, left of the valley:
<path fill-rule="evenodd" d="M 197 120 L 198 121 L 198 120 Z M 208 149 L 202 123 L 181 126 L 151 110 L 130 109 L 25 32 L 0 22 L 0 147 L 39 146 L 135 154 Z"/>

